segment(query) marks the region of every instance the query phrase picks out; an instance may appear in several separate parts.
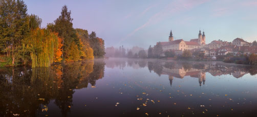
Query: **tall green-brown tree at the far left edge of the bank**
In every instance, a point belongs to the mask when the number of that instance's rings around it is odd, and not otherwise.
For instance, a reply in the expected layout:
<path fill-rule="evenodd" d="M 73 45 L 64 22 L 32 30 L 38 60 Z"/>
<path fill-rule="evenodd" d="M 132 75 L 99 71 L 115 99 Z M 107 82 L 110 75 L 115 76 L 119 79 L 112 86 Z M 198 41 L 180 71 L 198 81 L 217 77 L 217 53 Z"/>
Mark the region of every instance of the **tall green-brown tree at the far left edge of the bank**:
<path fill-rule="evenodd" d="M 14 66 L 18 50 L 22 48 L 22 40 L 28 33 L 27 6 L 23 1 L 2 0 L 0 1 L 0 43 L 1 48 L 12 57 Z"/>

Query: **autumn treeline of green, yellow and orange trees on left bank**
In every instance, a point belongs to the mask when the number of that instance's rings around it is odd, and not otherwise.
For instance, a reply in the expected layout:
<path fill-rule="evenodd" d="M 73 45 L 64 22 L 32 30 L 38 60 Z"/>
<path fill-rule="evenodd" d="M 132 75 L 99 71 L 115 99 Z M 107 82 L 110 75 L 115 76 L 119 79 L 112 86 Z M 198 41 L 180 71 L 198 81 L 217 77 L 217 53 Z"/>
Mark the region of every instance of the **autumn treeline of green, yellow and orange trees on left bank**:
<path fill-rule="evenodd" d="M 0 63 L 49 67 L 54 62 L 103 57 L 104 40 L 96 37 L 95 32 L 89 35 L 87 30 L 73 28 L 72 21 L 71 11 L 63 6 L 61 15 L 41 28 L 42 19 L 28 15 L 23 1 L 1 1 Z"/>

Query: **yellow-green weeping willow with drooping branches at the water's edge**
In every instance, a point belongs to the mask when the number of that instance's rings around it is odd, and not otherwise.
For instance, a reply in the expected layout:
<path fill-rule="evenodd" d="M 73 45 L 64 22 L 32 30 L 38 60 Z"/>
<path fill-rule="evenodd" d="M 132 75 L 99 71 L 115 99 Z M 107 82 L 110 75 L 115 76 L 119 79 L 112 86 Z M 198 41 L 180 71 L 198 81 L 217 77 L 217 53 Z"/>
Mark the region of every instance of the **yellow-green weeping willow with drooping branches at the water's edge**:
<path fill-rule="evenodd" d="M 26 39 L 30 50 L 32 68 L 49 67 L 54 62 L 54 50 L 58 49 L 58 35 L 45 28 L 36 28 Z"/>

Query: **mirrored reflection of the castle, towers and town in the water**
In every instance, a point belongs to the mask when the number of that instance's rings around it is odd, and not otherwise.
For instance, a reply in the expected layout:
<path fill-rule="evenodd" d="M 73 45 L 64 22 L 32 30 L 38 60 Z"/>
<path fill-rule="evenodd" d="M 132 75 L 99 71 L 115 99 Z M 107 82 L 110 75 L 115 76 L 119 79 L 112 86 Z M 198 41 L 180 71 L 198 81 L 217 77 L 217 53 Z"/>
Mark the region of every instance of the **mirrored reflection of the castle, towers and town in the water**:
<path fill-rule="evenodd" d="M 105 60 L 106 67 L 123 69 L 124 67 L 132 67 L 140 69 L 148 67 L 149 72 L 155 72 L 159 76 L 168 75 L 170 85 L 174 78 L 184 78 L 190 76 L 198 78 L 199 86 L 205 84 L 206 73 L 212 76 L 232 75 L 235 78 L 243 77 L 250 73 L 255 75 L 254 66 L 238 66 L 235 64 L 225 64 L 223 62 L 186 62 L 186 61 L 165 61 L 165 60 L 143 60 L 143 59 L 110 59 Z"/>

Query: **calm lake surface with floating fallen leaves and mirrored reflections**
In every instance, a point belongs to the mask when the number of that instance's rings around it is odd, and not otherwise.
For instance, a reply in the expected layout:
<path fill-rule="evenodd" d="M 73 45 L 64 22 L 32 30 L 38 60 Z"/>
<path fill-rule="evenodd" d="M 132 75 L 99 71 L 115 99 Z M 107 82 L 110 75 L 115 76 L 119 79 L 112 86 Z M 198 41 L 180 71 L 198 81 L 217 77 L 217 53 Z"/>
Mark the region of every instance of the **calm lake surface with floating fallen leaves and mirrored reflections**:
<path fill-rule="evenodd" d="M 0 116 L 257 116 L 256 73 L 127 58 L 0 68 Z"/>

